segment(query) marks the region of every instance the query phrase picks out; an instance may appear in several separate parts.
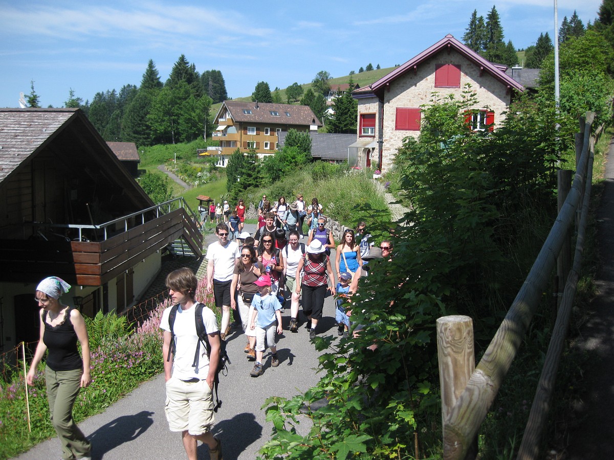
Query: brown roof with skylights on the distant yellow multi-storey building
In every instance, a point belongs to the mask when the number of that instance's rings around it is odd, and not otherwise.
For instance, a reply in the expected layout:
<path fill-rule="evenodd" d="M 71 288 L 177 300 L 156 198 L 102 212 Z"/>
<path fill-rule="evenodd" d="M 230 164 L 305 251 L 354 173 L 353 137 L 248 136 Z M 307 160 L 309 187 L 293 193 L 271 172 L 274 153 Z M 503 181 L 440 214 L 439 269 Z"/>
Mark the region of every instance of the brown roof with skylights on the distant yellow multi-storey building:
<path fill-rule="evenodd" d="M 220 118 L 222 111 L 226 109 L 230 112 L 230 117 L 237 123 L 252 121 L 254 123 L 271 123 L 273 125 L 322 126 L 321 121 L 317 119 L 308 105 L 224 101 L 220 110 L 217 111 L 216 120 Z M 279 115 L 272 115 L 271 112 L 277 112 Z M 286 112 L 290 116 L 286 115 Z"/>

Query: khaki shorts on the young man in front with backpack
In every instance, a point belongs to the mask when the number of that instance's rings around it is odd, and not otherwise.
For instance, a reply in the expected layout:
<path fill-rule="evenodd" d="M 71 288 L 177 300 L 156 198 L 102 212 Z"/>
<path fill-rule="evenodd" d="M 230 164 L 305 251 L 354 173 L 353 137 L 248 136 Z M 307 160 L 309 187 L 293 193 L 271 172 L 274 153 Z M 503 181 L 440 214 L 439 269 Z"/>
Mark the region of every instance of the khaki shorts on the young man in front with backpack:
<path fill-rule="evenodd" d="M 171 377 L 166 382 L 166 420 L 171 431 L 188 431 L 198 436 L 215 421 L 213 394 L 205 380 L 187 383 Z"/>

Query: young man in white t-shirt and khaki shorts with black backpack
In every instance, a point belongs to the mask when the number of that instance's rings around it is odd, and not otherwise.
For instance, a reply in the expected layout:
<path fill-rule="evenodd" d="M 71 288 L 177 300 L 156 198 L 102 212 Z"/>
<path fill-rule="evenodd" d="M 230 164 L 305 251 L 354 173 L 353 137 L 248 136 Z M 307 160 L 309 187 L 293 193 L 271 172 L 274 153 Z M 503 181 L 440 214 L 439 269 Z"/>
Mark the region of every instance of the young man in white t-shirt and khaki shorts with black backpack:
<path fill-rule="evenodd" d="M 195 301 L 198 280 L 188 268 L 174 270 L 166 277 L 166 287 L 179 304 L 173 322 L 175 350 L 171 350 L 171 327 L 168 307 L 162 314 L 160 328 L 164 331 L 162 354 L 166 379 L 165 413 L 171 431 L 181 432 L 188 459 L 196 458 L 198 441 L 209 446 L 211 459 L 222 458 L 222 443 L 211 434 L 214 423 L 213 382 L 220 355 L 220 335 L 216 315 L 203 307 L 203 324 L 207 331 L 211 352 L 198 348 L 198 366 L 192 367 L 198 334 L 196 333 Z M 173 355 L 173 359 L 170 359 Z M 167 360 L 168 357 L 168 360 Z"/>

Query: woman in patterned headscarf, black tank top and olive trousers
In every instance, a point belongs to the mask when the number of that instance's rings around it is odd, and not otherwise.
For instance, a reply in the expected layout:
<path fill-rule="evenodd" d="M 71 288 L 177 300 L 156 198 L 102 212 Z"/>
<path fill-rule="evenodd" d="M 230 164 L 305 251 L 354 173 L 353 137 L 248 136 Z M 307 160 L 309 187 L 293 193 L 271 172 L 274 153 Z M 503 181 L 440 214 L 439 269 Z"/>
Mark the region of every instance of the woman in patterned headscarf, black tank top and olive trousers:
<path fill-rule="evenodd" d="M 45 381 L 51 423 L 62 445 L 62 458 L 91 458 L 91 443 L 72 419 L 72 407 L 79 388 L 91 383 L 90 340 L 85 321 L 79 310 L 64 305 L 60 296 L 68 293 L 71 285 L 58 277 L 42 280 L 34 292 L 34 301 L 40 307 L 40 338 L 32 364 L 26 375 L 28 385 L 34 385 L 36 368 L 45 351 Z M 81 344 L 79 356 L 77 340 Z"/>

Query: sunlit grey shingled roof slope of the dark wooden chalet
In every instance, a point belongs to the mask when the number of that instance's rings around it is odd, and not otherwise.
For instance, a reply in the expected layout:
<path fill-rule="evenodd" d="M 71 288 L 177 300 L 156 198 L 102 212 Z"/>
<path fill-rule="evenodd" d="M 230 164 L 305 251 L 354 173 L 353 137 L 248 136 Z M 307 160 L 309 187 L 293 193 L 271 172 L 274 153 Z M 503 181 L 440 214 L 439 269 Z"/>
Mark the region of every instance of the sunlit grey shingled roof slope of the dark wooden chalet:
<path fill-rule="evenodd" d="M 51 142 L 79 109 L 0 109 L 0 182 Z"/>

